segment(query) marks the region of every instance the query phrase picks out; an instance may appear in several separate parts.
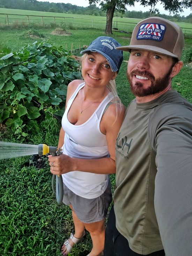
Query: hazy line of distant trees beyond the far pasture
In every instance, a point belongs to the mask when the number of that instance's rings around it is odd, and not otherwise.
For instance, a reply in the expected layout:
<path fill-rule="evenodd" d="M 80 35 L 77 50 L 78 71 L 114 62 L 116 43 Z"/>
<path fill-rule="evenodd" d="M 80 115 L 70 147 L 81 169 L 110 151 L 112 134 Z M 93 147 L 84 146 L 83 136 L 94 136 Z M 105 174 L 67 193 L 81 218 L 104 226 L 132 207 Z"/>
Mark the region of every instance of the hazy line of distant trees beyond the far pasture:
<path fill-rule="evenodd" d="M 72 5 L 71 3 L 50 3 L 50 2 L 38 2 L 37 0 L 0 0 L 0 8 L 9 9 L 21 9 L 21 10 L 35 10 L 41 12 L 53 12 L 53 13 L 71 13 L 71 14 L 83 14 L 83 15 L 94 15 L 94 16 L 106 16 L 106 12 L 96 5 L 89 5 L 88 7 L 81 7 Z M 127 7 L 128 9 L 128 7 Z M 165 19 L 169 19 L 175 22 L 189 22 L 192 23 L 192 13 L 185 17 L 176 15 L 165 15 L 155 14 L 150 12 L 142 11 L 125 11 L 124 14 L 115 12 L 114 17 L 127 17 L 127 18 L 138 18 L 145 19 L 149 16 L 160 16 Z"/>

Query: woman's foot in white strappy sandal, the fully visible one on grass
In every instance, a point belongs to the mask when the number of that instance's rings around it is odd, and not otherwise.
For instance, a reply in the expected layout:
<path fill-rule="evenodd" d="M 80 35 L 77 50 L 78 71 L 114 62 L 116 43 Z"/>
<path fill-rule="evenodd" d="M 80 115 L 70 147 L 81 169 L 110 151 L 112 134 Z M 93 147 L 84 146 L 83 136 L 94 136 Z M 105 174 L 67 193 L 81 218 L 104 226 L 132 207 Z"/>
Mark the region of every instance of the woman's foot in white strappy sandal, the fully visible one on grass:
<path fill-rule="evenodd" d="M 66 239 L 61 247 L 61 254 L 63 256 L 67 256 L 68 253 L 73 249 L 75 244 L 80 243 L 84 240 L 86 236 L 86 232 L 83 231 L 83 235 L 80 238 L 77 238 L 74 236 L 74 234 L 71 233 L 70 237 Z"/>

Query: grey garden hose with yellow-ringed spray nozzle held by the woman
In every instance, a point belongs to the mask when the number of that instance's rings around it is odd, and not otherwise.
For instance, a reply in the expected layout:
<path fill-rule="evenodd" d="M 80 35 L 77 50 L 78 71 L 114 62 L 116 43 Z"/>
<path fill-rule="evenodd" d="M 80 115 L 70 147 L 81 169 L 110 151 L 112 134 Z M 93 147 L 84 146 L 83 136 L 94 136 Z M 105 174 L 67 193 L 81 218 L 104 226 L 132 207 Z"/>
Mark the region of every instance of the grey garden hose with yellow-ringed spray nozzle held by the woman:
<path fill-rule="evenodd" d="M 62 150 L 60 148 L 57 149 L 57 147 L 47 146 L 46 144 L 39 144 L 38 145 L 38 154 L 39 155 L 51 154 L 52 156 L 57 156 L 57 155 L 62 154 Z M 54 186 L 55 179 L 56 179 L 56 189 L 55 189 L 55 186 Z M 53 174 L 53 176 L 52 176 L 52 190 L 56 194 L 57 203 L 58 204 L 62 203 L 62 199 L 63 199 L 63 181 L 62 181 L 62 176 L 61 175 L 56 176 L 55 174 Z"/>

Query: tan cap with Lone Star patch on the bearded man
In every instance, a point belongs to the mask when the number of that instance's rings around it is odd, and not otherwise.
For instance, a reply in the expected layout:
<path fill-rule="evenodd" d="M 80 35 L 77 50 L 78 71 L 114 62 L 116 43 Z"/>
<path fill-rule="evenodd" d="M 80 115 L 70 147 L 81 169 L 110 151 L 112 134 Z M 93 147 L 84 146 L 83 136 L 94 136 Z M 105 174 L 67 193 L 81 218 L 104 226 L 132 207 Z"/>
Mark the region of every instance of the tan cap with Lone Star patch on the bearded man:
<path fill-rule="evenodd" d="M 184 36 L 180 27 L 160 17 L 140 21 L 134 28 L 130 45 L 117 50 L 142 49 L 165 54 L 180 60 L 184 47 Z"/>

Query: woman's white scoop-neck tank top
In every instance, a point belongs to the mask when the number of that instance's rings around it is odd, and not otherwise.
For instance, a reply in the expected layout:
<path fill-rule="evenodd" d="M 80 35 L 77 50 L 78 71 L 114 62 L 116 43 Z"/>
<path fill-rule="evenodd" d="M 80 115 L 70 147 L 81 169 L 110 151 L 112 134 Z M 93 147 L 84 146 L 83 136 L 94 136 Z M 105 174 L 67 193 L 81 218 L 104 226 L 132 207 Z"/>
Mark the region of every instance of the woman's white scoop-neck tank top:
<path fill-rule="evenodd" d="M 81 83 L 67 103 L 62 117 L 62 128 L 65 131 L 63 153 L 74 158 L 99 159 L 109 157 L 106 136 L 100 131 L 100 122 L 106 105 L 114 98 L 110 92 L 99 104 L 93 115 L 81 125 L 73 125 L 67 118 L 68 111 L 80 89 Z M 65 185 L 76 195 L 84 198 L 96 198 L 105 191 L 108 175 L 72 171 L 62 174 Z"/>

